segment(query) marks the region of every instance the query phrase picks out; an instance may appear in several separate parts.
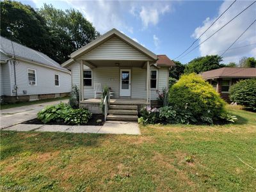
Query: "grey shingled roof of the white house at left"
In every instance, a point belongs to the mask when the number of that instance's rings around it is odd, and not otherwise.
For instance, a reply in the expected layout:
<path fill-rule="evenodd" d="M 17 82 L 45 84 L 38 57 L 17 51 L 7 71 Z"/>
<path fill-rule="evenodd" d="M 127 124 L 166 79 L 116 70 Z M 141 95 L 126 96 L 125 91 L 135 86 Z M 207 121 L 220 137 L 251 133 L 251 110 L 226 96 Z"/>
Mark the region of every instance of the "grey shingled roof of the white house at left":
<path fill-rule="evenodd" d="M 0 36 L 0 51 L 8 56 L 15 56 L 16 58 L 20 58 L 23 60 L 34 61 L 41 65 L 46 65 L 47 67 L 57 68 L 59 70 L 64 70 L 69 72 L 67 68 L 61 67 L 59 63 L 49 58 L 42 52 L 35 51 L 29 47 L 18 44 L 16 42 L 12 42 L 8 38 L 4 38 Z M 13 53 L 14 50 L 14 53 Z"/>

